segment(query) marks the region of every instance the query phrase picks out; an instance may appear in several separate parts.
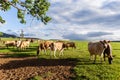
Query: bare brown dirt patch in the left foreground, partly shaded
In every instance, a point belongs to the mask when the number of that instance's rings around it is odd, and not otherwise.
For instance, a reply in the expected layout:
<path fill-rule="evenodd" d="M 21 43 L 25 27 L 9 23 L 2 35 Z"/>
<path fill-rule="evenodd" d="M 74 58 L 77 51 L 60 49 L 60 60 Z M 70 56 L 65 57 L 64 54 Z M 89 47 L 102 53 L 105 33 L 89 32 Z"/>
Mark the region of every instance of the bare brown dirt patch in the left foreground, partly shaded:
<path fill-rule="evenodd" d="M 43 80 L 71 80 L 75 64 L 72 59 L 13 58 L 0 54 L 0 80 L 30 80 L 34 76 Z"/>

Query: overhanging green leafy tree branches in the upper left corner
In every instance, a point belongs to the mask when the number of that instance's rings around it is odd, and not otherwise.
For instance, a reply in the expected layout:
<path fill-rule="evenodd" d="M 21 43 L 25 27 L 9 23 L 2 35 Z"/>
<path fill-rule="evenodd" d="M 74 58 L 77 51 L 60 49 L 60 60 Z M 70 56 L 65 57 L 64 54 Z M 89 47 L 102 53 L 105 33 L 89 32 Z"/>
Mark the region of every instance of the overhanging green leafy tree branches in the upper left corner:
<path fill-rule="evenodd" d="M 47 0 L 0 0 L 0 10 L 8 11 L 11 7 L 17 9 L 17 17 L 20 23 L 26 23 L 25 15 L 31 15 L 37 20 L 41 20 L 47 24 L 51 18 L 46 15 L 50 3 Z M 0 23 L 5 23 L 5 20 L 0 16 Z"/>

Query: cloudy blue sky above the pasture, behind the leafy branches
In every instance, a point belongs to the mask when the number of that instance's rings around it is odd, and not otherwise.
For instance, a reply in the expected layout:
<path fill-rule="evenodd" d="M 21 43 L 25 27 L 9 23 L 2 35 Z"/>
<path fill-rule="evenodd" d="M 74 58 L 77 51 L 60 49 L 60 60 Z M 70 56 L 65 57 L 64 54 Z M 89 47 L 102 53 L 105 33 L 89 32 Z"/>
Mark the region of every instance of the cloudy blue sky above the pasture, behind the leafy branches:
<path fill-rule="evenodd" d="M 44 25 L 40 21 L 20 24 L 12 8 L 0 15 L 6 20 L 0 31 L 42 39 L 120 40 L 120 0 L 48 0 L 47 14 L 52 20 Z"/>

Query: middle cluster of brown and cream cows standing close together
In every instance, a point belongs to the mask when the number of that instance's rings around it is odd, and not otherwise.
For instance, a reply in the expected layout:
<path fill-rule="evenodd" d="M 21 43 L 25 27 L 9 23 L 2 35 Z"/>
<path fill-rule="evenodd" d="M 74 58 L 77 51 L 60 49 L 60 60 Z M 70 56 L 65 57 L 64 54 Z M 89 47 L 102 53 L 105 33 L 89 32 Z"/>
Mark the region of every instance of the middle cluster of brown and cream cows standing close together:
<path fill-rule="evenodd" d="M 68 49 L 68 47 L 76 48 L 76 45 L 74 42 L 65 43 L 64 41 L 43 41 L 40 42 L 37 48 L 37 55 L 39 55 L 42 50 L 46 53 L 46 50 L 50 49 L 51 51 L 54 51 L 54 57 L 56 57 L 57 50 L 60 52 L 59 55 L 63 55 L 64 49 Z"/>

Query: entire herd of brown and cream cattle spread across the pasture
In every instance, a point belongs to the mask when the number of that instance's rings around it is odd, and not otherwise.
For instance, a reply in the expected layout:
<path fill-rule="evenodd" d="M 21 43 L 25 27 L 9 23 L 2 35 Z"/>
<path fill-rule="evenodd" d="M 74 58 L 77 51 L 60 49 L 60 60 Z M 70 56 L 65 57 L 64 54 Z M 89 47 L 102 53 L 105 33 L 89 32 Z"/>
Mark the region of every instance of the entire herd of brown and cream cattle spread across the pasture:
<path fill-rule="evenodd" d="M 33 40 L 14 40 L 14 41 L 4 41 L 4 45 L 9 48 L 9 46 L 17 47 L 17 49 L 24 50 L 26 48 L 29 48 L 30 43 L 33 42 Z M 69 47 L 76 48 L 75 42 L 64 42 L 64 41 L 48 41 L 48 40 L 39 40 L 38 41 L 38 47 L 37 47 L 37 56 L 44 51 L 49 49 L 50 54 L 54 54 L 54 57 L 56 57 L 56 51 L 59 51 L 59 55 L 63 55 L 64 49 L 68 49 Z M 112 63 L 113 56 L 112 56 L 112 48 L 110 41 L 103 40 L 98 42 L 89 42 L 88 43 L 88 51 L 90 53 L 90 60 L 93 59 L 94 63 L 96 62 L 96 56 L 99 55 L 101 62 L 102 58 L 108 57 L 109 64 Z"/>

